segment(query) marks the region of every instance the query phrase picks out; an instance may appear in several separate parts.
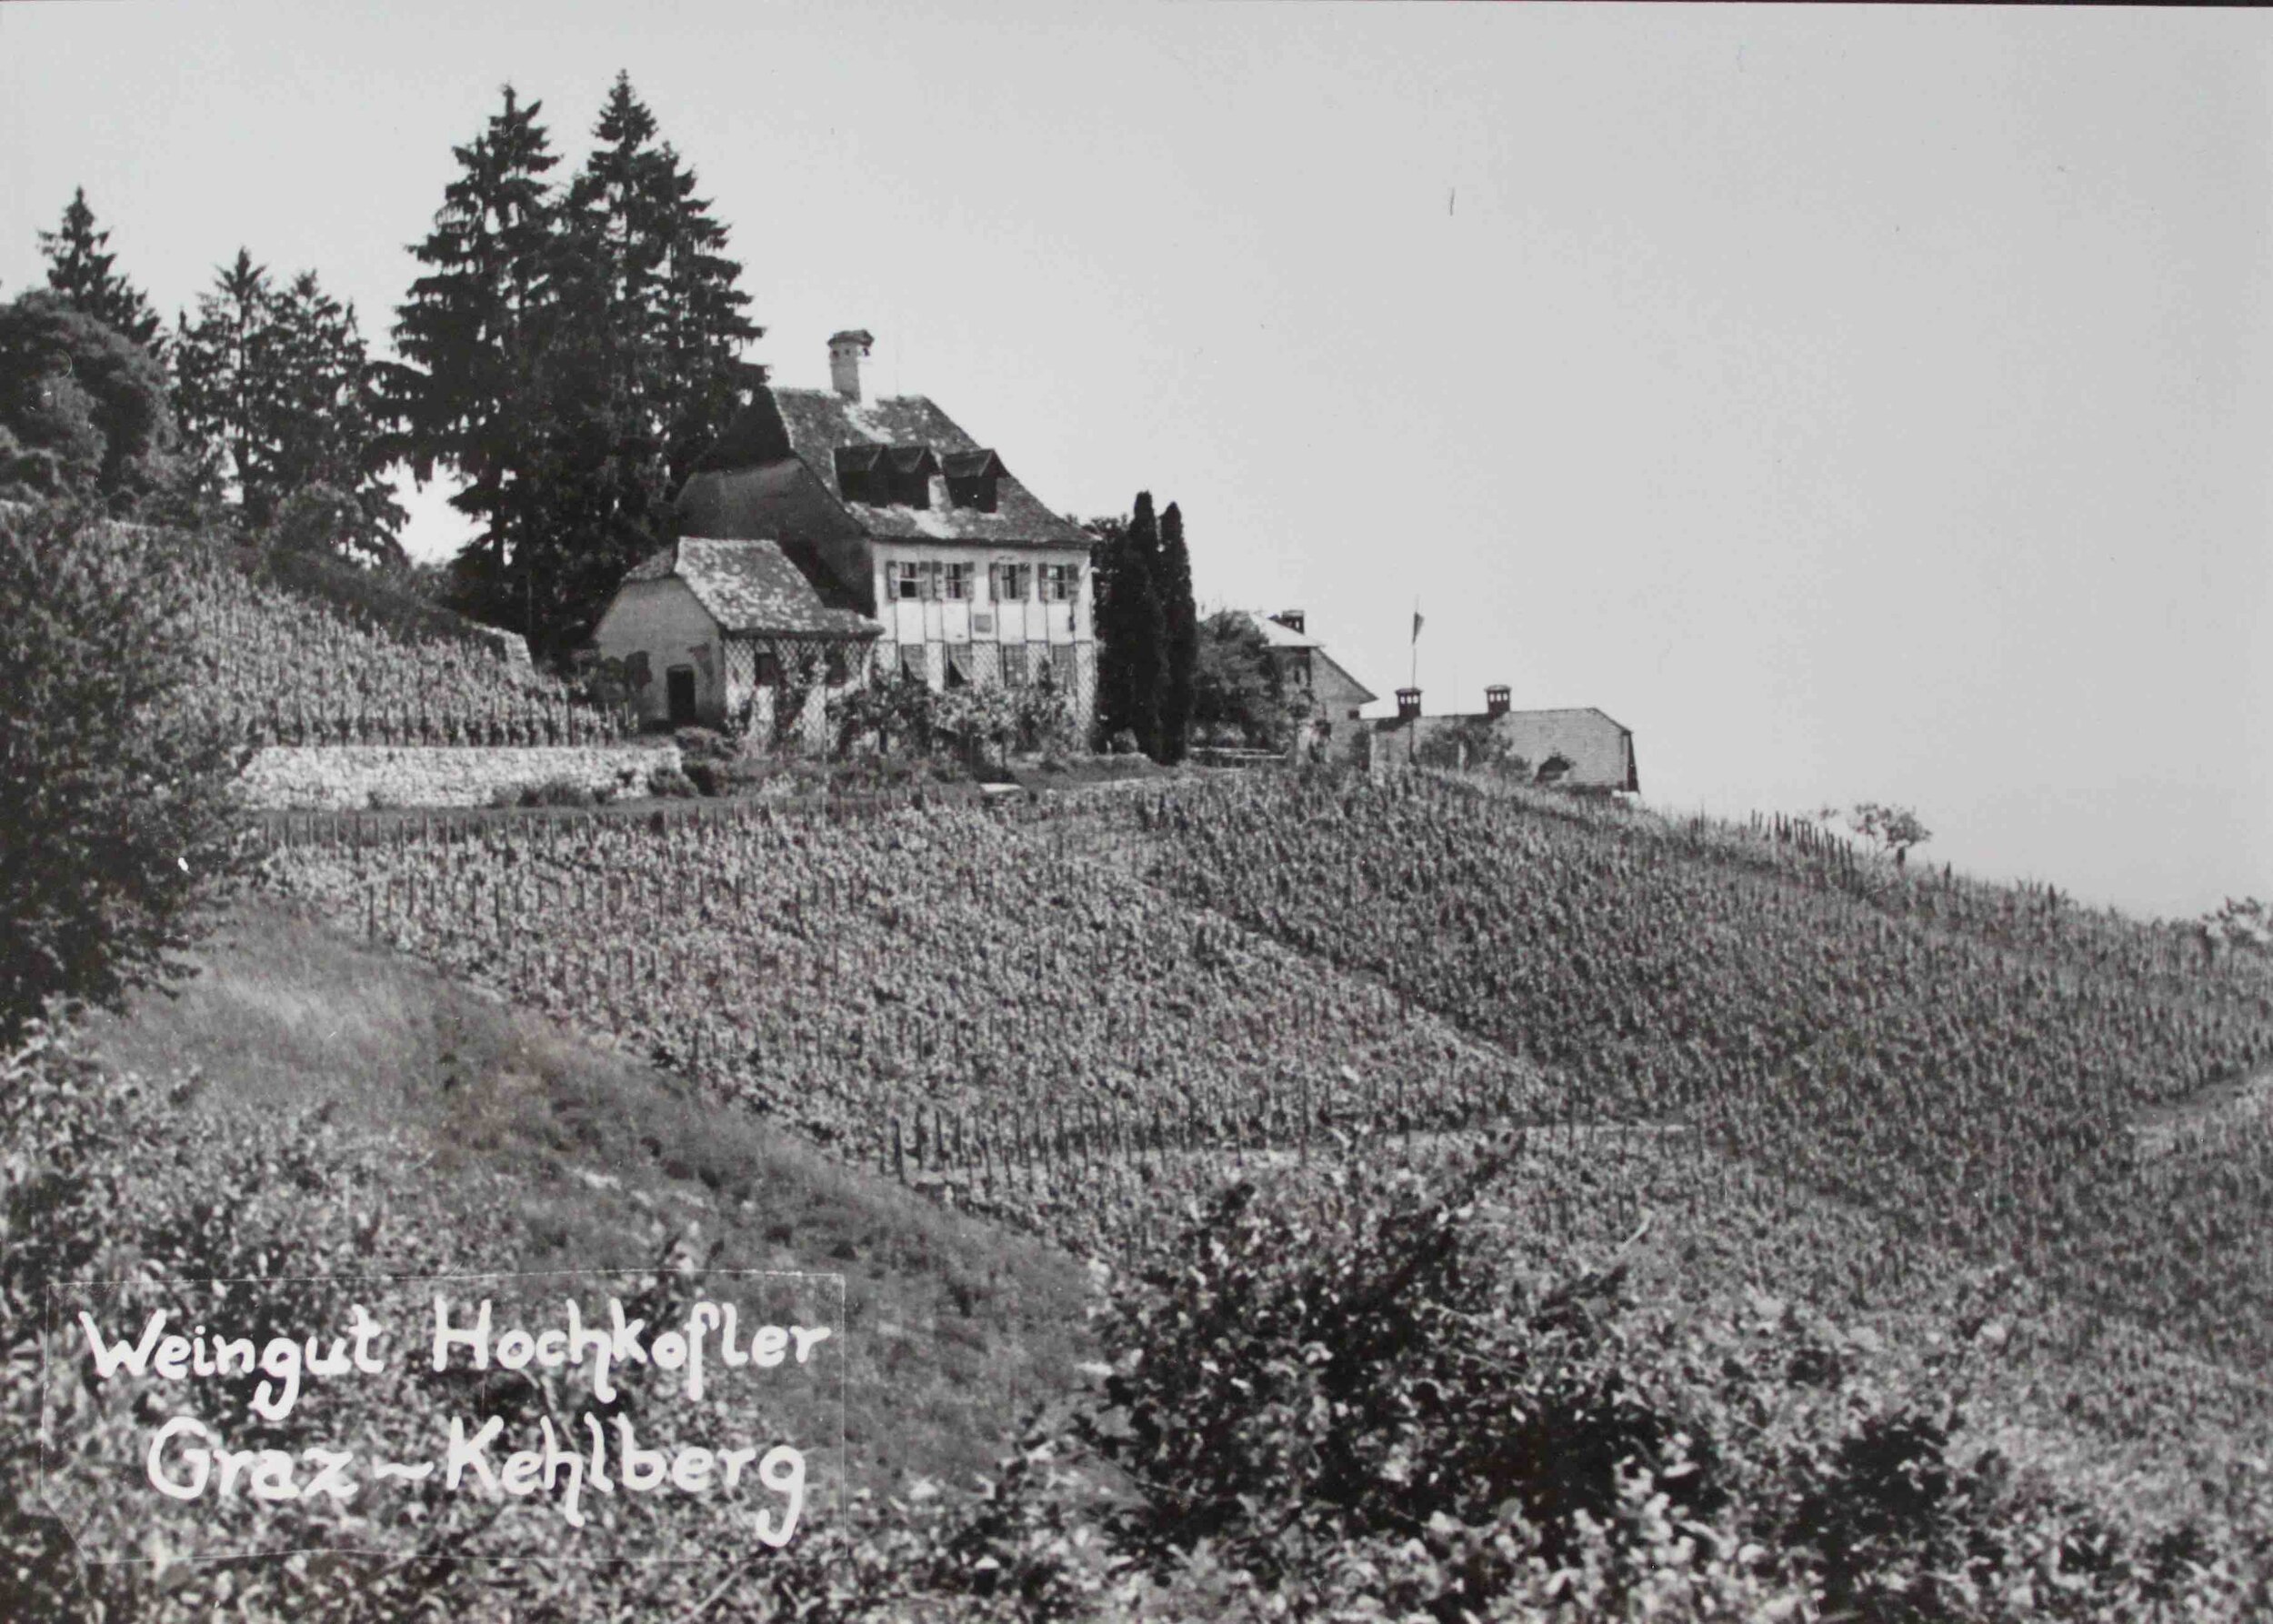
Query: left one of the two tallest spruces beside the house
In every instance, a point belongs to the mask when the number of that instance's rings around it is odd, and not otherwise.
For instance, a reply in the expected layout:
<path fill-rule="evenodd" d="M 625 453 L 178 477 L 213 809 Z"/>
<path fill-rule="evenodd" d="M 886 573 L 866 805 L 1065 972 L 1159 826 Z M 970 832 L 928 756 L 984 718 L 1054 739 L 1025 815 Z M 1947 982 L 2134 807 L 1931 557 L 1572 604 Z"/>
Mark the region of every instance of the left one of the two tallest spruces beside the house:
<path fill-rule="evenodd" d="M 546 175 L 559 157 L 541 111 L 507 84 L 482 134 L 452 148 L 459 175 L 411 248 L 427 273 L 396 307 L 402 364 L 382 373 L 391 450 L 421 484 L 436 466 L 464 480 L 450 505 L 480 523 L 452 564 L 461 607 L 516 628 L 523 605 L 507 571 L 539 525 L 532 473 L 550 393 L 539 362 L 557 303 L 559 205 Z"/>

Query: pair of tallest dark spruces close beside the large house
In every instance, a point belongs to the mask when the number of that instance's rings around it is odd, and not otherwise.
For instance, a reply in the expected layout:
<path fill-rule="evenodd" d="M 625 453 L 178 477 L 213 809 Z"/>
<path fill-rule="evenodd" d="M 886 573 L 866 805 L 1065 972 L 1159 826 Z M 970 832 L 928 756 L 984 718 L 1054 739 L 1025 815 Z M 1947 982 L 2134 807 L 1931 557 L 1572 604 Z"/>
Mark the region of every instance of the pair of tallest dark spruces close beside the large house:
<path fill-rule="evenodd" d="M 736 405 L 741 266 L 696 173 L 625 75 L 566 189 L 536 123 L 505 107 L 471 146 L 398 309 L 393 450 L 466 480 L 482 523 L 459 603 L 564 653 L 668 532 L 668 500 Z"/>

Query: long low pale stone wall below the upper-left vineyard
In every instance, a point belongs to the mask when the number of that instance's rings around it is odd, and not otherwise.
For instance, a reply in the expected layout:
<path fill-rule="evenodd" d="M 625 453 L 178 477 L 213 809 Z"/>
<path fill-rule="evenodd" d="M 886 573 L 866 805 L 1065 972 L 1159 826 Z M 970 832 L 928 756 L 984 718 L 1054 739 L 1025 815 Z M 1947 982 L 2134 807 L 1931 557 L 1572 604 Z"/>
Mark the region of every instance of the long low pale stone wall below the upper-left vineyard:
<path fill-rule="evenodd" d="M 270 744 L 236 780 L 255 807 L 482 807 L 500 789 L 571 778 L 591 789 L 646 794 L 648 773 L 677 767 L 652 744 Z"/>

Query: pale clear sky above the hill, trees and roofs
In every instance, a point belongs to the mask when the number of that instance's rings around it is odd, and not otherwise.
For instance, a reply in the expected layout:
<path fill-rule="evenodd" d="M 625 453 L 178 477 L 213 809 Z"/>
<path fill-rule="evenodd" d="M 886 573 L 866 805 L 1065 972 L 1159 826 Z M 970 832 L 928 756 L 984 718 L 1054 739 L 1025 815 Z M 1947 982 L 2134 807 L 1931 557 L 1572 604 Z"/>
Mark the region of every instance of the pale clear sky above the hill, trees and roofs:
<path fill-rule="evenodd" d="M 5 5 L 0 296 L 86 187 L 168 316 L 245 246 L 384 346 L 500 89 L 575 164 L 618 71 L 750 359 L 868 328 L 1052 507 L 1180 503 L 1202 603 L 1305 610 L 1377 710 L 1507 682 L 1666 810 L 2273 896 L 2264 14 Z"/>

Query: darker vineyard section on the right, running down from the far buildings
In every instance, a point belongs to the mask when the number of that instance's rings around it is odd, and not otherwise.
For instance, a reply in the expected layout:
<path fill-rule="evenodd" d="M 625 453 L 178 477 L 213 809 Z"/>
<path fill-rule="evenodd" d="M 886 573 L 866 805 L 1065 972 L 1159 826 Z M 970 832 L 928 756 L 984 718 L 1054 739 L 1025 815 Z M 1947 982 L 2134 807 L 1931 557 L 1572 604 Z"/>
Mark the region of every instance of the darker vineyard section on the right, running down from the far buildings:
<path fill-rule="evenodd" d="M 2218 1356 L 2273 1349 L 2273 1128 L 2137 1130 L 2273 1060 L 2262 962 L 2041 892 L 1430 778 L 1180 785 L 1082 821 L 1187 903 L 1568 1078 L 1591 1115 L 1689 1124 Z"/>

